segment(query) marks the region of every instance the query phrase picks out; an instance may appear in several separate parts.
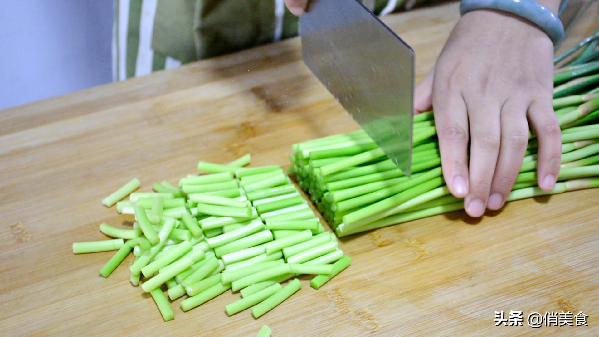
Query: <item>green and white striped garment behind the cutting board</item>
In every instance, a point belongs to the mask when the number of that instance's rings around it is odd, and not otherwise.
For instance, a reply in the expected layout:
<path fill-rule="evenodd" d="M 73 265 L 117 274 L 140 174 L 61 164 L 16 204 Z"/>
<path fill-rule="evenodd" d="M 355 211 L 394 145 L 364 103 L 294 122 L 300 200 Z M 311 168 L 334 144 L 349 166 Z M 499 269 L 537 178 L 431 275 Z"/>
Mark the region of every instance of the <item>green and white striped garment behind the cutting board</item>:
<path fill-rule="evenodd" d="M 283 0 L 157 0 L 151 8 L 148 4 L 154 2 L 114 1 L 115 27 L 121 32 L 114 37 L 120 46 L 114 53 L 114 64 L 126 67 L 126 77 L 135 76 L 138 50 L 142 48 L 152 49 L 155 71 L 168 67 L 169 60 L 185 64 L 298 34 L 299 18 L 287 10 Z M 379 15 L 443 0 L 361 1 Z M 153 25 L 140 25 L 148 13 L 153 13 Z M 120 25 L 127 25 L 126 34 Z M 150 36 L 151 45 L 144 46 L 141 36 Z M 118 58 L 126 58 L 126 62 Z"/>

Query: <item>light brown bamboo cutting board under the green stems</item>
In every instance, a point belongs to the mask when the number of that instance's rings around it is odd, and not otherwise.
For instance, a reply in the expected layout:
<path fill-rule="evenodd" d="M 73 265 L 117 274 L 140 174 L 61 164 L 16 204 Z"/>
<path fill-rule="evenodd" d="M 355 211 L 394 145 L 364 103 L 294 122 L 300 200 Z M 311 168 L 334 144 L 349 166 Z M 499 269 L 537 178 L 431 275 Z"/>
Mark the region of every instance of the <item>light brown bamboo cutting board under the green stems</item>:
<path fill-rule="evenodd" d="M 566 46 L 591 35 L 587 11 Z M 422 79 L 458 19 L 456 3 L 389 16 Z M 0 112 L 0 334 L 8 336 L 599 335 L 599 191 L 509 203 L 341 239 L 352 266 L 254 320 L 227 317 L 230 292 L 164 322 L 129 284 L 132 256 L 73 255 L 101 222 L 132 216 L 101 199 L 132 177 L 142 189 L 225 163 L 286 166 L 292 143 L 356 124 L 301 62 L 297 38 Z M 494 326 L 495 311 L 582 311 L 588 327 Z"/>

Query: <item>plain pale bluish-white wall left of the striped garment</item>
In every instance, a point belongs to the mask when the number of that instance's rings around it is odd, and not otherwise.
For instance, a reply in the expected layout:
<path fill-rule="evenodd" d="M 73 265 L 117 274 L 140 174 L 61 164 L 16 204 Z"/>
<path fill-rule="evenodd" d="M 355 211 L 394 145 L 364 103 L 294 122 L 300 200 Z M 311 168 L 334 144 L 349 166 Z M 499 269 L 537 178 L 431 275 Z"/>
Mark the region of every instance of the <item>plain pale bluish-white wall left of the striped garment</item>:
<path fill-rule="evenodd" d="M 0 109 L 108 83 L 113 0 L 0 0 Z"/>

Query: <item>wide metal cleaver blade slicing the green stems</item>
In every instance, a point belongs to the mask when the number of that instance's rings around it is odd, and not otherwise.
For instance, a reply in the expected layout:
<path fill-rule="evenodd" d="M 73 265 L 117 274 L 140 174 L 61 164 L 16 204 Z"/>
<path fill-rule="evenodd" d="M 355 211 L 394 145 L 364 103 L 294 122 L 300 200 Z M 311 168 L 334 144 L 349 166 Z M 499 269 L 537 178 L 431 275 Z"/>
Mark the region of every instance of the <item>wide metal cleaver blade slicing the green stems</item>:
<path fill-rule="evenodd" d="M 310 0 L 302 58 L 406 176 L 412 173 L 414 51 L 358 0 Z"/>

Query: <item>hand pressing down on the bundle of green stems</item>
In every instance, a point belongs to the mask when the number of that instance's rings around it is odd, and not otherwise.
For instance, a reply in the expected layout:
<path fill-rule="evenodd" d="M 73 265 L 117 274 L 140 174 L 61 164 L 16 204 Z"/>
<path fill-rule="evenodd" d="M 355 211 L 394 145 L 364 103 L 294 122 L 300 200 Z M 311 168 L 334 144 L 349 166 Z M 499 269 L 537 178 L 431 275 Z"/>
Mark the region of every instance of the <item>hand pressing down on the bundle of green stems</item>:
<path fill-rule="evenodd" d="M 459 19 L 417 86 L 415 110 L 433 108 L 443 177 L 453 195 L 465 197 L 470 216 L 505 203 L 524 159 L 529 123 L 539 140 L 539 186 L 547 191 L 555 185 L 561 133 L 552 107 L 552 58 L 551 40 L 533 23 L 476 10 Z"/>

